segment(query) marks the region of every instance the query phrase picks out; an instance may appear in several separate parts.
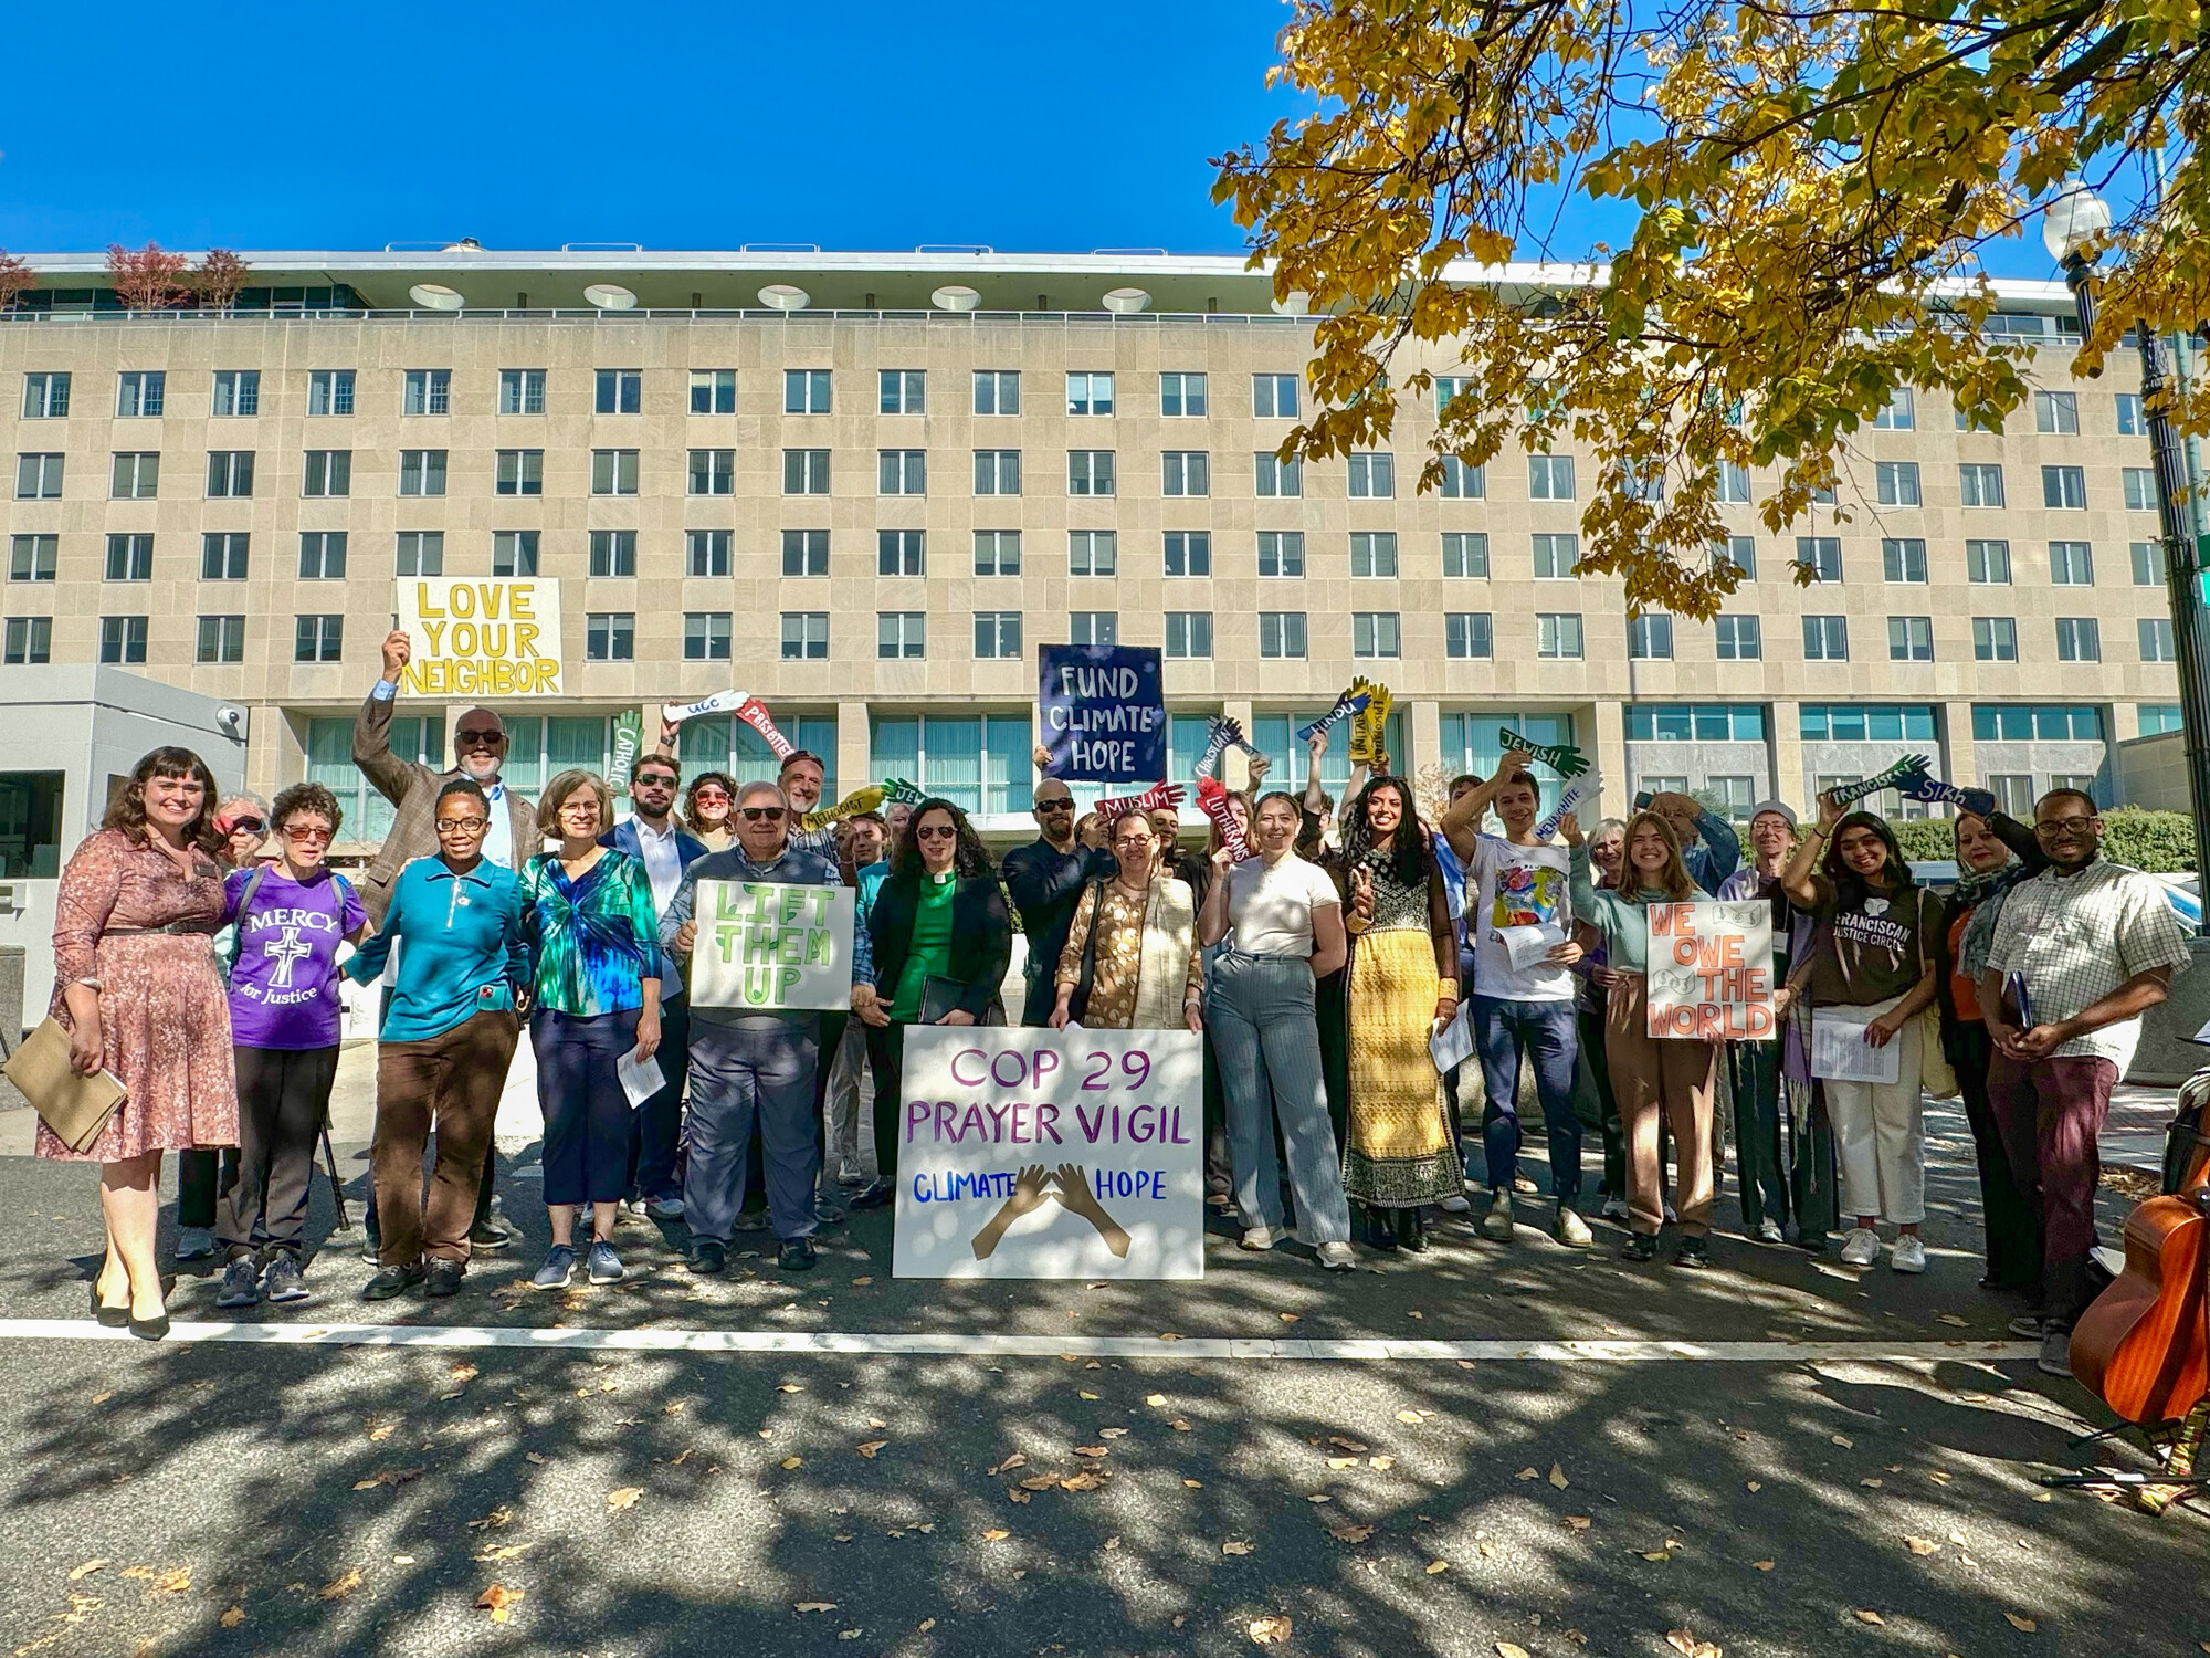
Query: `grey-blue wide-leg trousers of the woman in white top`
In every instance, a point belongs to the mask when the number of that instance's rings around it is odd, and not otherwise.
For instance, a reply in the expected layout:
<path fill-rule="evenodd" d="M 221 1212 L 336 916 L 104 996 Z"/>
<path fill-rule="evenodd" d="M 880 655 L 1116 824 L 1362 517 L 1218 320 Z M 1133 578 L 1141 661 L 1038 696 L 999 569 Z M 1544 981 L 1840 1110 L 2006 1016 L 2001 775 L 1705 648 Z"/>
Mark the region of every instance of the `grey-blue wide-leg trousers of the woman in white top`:
<path fill-rule="evenodd" d="M 1350 1242 L 1341 1161 L 1328 1123 L 1313 1017 L 1313 968 L 1288 955 L 1222 951 L 1204 990 L 1204 1026 L 1220 1054 L 1229 1110 L 1235 1209 L 1246 1227 L 1282 1225 L 1282 1174 L 1273 1123 L 1282 1121 L 1297 1238 Z"/>

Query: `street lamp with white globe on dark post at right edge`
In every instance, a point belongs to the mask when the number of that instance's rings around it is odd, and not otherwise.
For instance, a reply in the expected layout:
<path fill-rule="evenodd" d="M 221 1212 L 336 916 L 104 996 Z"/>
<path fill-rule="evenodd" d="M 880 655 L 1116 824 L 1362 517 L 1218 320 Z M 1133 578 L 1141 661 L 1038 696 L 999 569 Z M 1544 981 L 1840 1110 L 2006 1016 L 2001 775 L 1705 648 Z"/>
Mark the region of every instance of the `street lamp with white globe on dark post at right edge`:
<path fill-rule="evenodd" d="M 2073 186 L 2042 214 L 2042 243 L 2064 265 L 2064 285 L 2080 307 L 2080 336 L 2095 329 L 2093 243 L 2111 228 L 2111 208 L 2086 186 Z M 2179 723 L 2188 749 L 2188 809 L 2195 818 L 2195 871 L 2210 891 L 2210 606 L 2203 595 L 2203 562 L 2188 535 L 2181 497 L 2188 486 L 2179 436 L 2164 413 L 2164 340 L 2135 325 L 2141 347 L 2141 411 L 2148 416 L 2148 449 L 2157 473 L 2157 526 L 2164 542 L 2164 577 L 2172 599 L 2172 646 L 2179 668 Z M 2210 913 L 2197 928 L 2210 937 Z"/>

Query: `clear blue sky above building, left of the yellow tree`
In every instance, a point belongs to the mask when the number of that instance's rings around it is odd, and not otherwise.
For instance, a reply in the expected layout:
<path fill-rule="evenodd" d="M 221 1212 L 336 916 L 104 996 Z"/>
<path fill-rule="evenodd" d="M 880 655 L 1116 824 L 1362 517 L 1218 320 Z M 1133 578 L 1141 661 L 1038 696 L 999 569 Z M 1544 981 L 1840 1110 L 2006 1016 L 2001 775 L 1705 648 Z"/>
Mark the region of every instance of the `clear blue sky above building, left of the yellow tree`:
<path fill-rule="evenodd" d="M 427 22 L 449 18 L 451 22 Z M 0 248 L 1235 252 L 1280 0 L 31 7 Z"/>

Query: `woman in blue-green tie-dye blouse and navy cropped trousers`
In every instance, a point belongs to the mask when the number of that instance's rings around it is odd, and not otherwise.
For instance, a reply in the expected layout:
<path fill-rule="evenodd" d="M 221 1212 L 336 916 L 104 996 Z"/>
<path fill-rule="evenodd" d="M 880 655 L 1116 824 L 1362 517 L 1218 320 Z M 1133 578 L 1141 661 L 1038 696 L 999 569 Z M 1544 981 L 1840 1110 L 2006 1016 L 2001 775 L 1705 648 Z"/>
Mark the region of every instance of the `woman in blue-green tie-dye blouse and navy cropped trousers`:
<path fill-rule="evenodd" d="M 537 805 L 559 838 L 522 871 L 522 935 L 530 951 L 530 1046 L 546 1114 L 546 1211 L 552 1249 L 533 1280 L 561 1289 L 575 1273 L 575 1207 L 592 1207 L 590 1282 L 621 1280 L 614 1214 L 630 1180 L 630 1101 L 619 1063 L 661 1046 L 661 928 L 641 858 L 601 847 L 614 800 L 590 772 L 561 772 Z"/>

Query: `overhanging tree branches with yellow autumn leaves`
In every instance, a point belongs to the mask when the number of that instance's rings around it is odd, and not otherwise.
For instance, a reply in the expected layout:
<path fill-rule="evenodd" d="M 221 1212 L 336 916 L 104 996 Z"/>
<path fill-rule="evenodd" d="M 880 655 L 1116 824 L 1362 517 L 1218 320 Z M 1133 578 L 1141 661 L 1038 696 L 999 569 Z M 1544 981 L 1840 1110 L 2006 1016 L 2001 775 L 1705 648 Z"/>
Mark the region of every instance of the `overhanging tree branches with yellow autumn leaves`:
<path fill-rule="evenodd" d="M 1421 486 L 1507 440 L 1587 444 L 1580 568 L 1631 608 L 1719 608 L 1744 469 L 1777 469 L 1772 531 L 1848 517 L 1852 433 L 1898 389 L 2000 422 L 2033 345 L 1985 332 L 1982 256 L 2069 179 L 2181 144 L 2161 212 L 2097 248 L 2082 371 L 2135 318 L 2210 316 L 2199 0 L 1291 4 L 1273 75 L 1313 108 L 1216 161 L 1277 298 L 1315 312 L 1319 407 L 1284 455 L 1372 447 L 1448 376 Z M 1624 245 L 1556 248 L 1576 206 Z"/>

